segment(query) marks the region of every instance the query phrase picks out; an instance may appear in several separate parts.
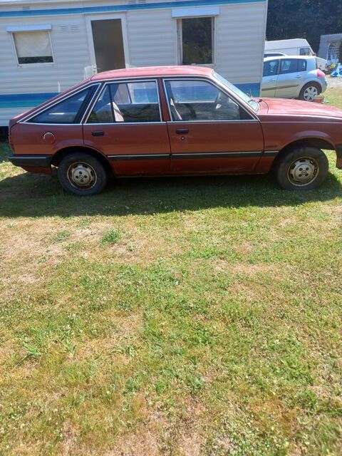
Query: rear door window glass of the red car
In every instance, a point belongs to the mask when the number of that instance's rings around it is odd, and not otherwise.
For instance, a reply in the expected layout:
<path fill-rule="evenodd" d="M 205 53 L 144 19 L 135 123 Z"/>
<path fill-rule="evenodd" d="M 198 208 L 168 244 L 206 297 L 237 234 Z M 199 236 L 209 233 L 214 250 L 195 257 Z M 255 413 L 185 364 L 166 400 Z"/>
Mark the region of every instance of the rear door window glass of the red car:
<path fill-rule="evenodd" d="M 155 81 L 108 84 L 90 113 L 88 123 L 160 122 Z"/>

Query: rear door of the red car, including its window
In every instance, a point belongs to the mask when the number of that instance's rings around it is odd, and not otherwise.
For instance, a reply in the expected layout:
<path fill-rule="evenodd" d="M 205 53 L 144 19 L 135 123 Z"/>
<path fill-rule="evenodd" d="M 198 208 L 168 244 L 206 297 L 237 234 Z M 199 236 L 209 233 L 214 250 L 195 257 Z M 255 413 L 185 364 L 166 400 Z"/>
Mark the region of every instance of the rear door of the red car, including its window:
<path fill-rule="evenodd" d="M 83 125 L 84 144 L 110 160 L 115 175 L 170 171 L 170 141 L 157 81 L 108 82 Z"/>

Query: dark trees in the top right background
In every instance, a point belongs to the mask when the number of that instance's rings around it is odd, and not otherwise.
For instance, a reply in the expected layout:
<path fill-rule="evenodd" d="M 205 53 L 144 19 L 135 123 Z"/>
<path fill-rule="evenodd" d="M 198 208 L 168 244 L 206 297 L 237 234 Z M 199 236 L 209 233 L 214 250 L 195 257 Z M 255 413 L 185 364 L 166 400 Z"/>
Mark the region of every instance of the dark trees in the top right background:
<path fill-rule="evenodd" d="M 339 32 L 341 0 L 269 0 L 268 40 L 306 38 L 317 52 L 321 35 Z"/>

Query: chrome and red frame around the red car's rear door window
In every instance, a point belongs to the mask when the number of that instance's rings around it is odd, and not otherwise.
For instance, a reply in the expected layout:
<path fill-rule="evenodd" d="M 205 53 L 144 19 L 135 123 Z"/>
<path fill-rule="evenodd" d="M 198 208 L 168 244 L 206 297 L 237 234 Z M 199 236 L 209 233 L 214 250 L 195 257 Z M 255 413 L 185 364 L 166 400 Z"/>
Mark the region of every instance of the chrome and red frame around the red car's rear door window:
<path fill-rule="evenodd" d="M 155 82 L 155 86 L 157 88 L 157 96 L 158 96 L 158 104 L 159 104 L 159 115 L 160 115 L 160 121 L 159 122 L 110 122 L 110 123 L 88 123 L 90 114 L 93 112 L 93 108 L 95 107 L 96 103 L 98 102 L 98 98 L 100 98 L 100 95 L 104 92 L 104 90 L 107 88 L 108 85 L 110 84 L 120 84 L 120 83 L 139 83 L 139 82 Z M 108 79 L 103 81 L 102 87 L 100 90 L 96 90 L 97 95 L 91 100 L 91 102 L 88 105 L 88 110 L 86 115 L 83 117 L 82 124 L 83 125 L 151 125 L 151 124 L 157 124 L 160 125 L 162 123 L 165 123 L 165 120 L 162 115 L 162 103 L 161 103 L 161 97 L 160 97 L 160 90 L 159 90 L 159 84 L 158 84 L 158 78 L 152 77 L 152 78 L 142 78 L 142 79 L 137 79 L 137 78 L 123 78 L 123 79 Z"/>

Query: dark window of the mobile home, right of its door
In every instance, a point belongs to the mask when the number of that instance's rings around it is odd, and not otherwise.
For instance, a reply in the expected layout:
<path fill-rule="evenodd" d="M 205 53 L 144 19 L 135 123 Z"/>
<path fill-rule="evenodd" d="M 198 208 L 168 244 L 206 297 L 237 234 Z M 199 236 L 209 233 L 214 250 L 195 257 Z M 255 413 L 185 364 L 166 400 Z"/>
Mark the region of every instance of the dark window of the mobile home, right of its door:
<path fill-rule="evenodd" d="M 199 17 L 178 21 L 181 65 L 214 63 L 214 18 Z"/>

